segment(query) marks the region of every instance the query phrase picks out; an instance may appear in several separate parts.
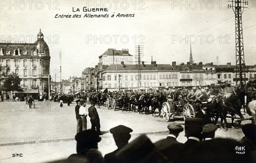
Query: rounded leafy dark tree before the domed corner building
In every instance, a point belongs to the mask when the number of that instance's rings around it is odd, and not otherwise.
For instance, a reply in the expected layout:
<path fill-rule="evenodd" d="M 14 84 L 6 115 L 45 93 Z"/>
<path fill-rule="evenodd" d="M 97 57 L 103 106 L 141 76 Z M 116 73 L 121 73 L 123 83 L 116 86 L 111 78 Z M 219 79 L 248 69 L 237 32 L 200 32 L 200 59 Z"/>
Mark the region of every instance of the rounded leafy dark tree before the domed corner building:
<path fill-rule="evenodd" d="M 21 88 L 20 82 L 21 79 L 17 74 L 9 74 L 6 76 L 5 81 L 3 82 L 2 89 L 6 92 L 12 91 L 12 93 L 14 91 L 23 92 L 23 88 Z"/>

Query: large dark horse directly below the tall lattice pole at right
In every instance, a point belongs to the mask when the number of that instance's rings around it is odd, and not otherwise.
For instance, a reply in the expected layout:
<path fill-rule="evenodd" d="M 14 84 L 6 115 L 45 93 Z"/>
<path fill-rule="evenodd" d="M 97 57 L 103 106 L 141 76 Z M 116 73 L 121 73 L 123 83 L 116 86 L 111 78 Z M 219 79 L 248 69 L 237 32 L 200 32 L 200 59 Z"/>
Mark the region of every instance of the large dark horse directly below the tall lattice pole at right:
<path fill-rule="evenodd" d="M 231 117 L 234 117 L 235 114 L 238 114 L 239 117 L 244 118 L 244 116 L 241 114 L 241 107 L 242 107 L 242 103 L 239 99 L 239 97 L 235 94 L 226 94 L 224 95 L 224 97 L 222 97 L 223 100 L 223 104 L 224 104 L 224 110 L 223 110 L 223 114 L 224 114 L 224 118 L 221 118 L 221 127 L 222 127 L 222 122 L 223 120 L 225 121 L 225 126 L 224 129 L 227 129 L 227 112 L 231 113 Z M 234 126 L 234 118 L 231 118 L 232 123 L 231 126 L 233 128 Z"/>

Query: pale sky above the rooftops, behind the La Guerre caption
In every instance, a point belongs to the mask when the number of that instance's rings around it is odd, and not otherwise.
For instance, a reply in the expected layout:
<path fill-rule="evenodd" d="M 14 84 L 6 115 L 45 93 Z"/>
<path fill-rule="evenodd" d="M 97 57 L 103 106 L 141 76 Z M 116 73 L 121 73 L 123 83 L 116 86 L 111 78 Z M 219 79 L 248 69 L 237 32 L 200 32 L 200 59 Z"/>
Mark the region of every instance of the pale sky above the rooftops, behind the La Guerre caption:
<path fill-rule="evenodd" d="M 244 60 L 255 65 L 256 0 L 248 1 L 242 14 Z M 0 42 L 34 43 L 41 28 L 49 46 L 52 77 L 59 71 L 61 51 L 62 79 L 81 76 L 86 67 L 97 65 L 108 48 L 129 49 L 134 55 L 135 45 L 144 46 L 146 64 L 151 56 L 157 63 L 186 63 L 191 44 L 194 63 L 235 65 L 235 14 L 228 4 L 226 0 L 1 0 Z M 107 11 L 83 10 L 95 8 Z"/>

